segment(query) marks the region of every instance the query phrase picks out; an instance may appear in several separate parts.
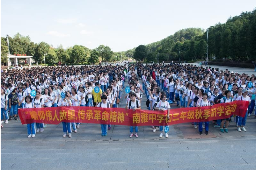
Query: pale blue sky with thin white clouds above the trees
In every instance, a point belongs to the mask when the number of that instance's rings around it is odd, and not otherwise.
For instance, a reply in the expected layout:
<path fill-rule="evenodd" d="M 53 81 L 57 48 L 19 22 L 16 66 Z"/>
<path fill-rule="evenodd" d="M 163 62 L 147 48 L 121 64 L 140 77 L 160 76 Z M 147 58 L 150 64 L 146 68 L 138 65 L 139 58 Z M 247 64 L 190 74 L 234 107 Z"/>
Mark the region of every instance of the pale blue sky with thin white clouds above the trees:
<path fill-rule="evenodd" d="M 164 39 L 176 31 L 225 23 L 255 0 L 215 1 L 1 1 L 1 37 L 19 32 L 64 48 L 107 45 L 114 52 Z"/>

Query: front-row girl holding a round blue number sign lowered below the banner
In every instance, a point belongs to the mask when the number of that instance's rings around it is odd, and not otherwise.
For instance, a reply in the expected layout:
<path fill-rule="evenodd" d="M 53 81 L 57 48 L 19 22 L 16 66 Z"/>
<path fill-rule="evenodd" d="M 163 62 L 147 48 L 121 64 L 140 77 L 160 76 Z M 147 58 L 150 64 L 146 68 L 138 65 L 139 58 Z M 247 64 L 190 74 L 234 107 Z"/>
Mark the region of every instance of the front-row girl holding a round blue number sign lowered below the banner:
<path fill-rule="evenodd" d="M 167 118 L 170 119 L 170 117 L 169 117 L 170 108 L 171 108 L 170 104 L 166 101 L 166 95 L 163 93 L 160 97 L 160 101 L 157 103 L 156 110 L 163 110 L 163 111 L 167 110 Z M 163 130 L 164 130 L 163 126 L 160 126 L 159 127 L 159 131 L 160 131 L 159 138 L 163 137 L 163 132 L 162 132 Z M 165 133 L 165 138 L 168 138 L 167 133 Z"/>

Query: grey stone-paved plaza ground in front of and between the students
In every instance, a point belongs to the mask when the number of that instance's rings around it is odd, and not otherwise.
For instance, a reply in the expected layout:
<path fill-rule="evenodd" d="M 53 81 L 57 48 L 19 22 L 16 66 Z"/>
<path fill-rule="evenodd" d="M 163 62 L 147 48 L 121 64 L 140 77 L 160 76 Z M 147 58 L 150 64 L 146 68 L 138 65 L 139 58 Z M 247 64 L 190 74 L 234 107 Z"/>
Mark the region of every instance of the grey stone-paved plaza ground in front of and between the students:
<path fill-rule="evenodd" d="M 252 69 L 244 69 L 249 71 Z M 118 107 L 125 107 L 124 95 L 123 90 Z M 146 110 L 144 94 L 142 103 Z M 77 133 L 72 132 L 72 138 L 62 137 L 62 124 L 48 124 L 35 138 L 27 138 L 26 124 L 19 119 L 3 125 L 4 169 L 255 169 L 253 115 L 247 117 L 246 132 L 238 132 L 232 118 L 229 133 L 210 123 L 209 135 L 199 135 L 194 125 L 186 123 L 170 125 L 169 138 L 159 138 L 159 131 L 152 132 L 150 126 L 139 126 L 139 137 L 129 138 L 129 127 L 122 125 L 112 125 L 102 137 L 99 124 L 85 123 Z"/>

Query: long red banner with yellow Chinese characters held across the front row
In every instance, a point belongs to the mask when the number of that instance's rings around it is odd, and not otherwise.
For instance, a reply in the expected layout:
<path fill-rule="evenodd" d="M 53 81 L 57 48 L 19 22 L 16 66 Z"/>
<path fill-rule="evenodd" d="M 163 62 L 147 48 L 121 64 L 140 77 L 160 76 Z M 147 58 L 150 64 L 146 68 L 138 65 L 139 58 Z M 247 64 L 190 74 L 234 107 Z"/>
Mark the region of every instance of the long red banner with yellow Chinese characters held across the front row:
<path fill-rule="evenodd" d="M 22 124 L 61 122 L 121 124 L 127 126 L 166 125 L 187 122 L 204 122 L 228 118 L 231 115 L 245 117 L 248 101 L 234 101 L 213 106 L 170 109 L 170 119 L 166 111 L 99 107 L 48 107 L 19 109 Z"/>

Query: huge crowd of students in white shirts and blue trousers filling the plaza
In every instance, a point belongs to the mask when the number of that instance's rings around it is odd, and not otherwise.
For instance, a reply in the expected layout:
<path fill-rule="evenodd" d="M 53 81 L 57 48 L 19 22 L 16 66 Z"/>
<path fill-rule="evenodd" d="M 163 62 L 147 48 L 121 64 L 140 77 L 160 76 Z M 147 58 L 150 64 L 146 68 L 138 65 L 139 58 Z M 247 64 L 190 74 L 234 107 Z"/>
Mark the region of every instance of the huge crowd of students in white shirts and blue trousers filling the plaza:
<path fill-rule="evenodd" d="M 255 107 L 255 75 L 238 74 L 194 65 L 170 64 L 132 64 L 116 66 L 81 67 L 31 67 L 22 70 L 8 70 L 1 74 L 1 127 L 11 119 L 18 120 L 18 108 L 41 108 L 58 106 L 94 106 L 102 108 L 118 107 L 124 81 L 128 81 L 130 92 L 124 95 L 126 109 L 141 109 L 145 94 L 149 110 L 168 110 L 170 103 L 179 107 L 202 107 L 234 100 L 249 101 L 248 114 L 236 116 L 238 131 L 246 131 L 246 117 L 251 116 Z M 142 84 L 140 84 L 140 82 Z M 252 82 L 252 87 L 248 83 Z M 100 88 L 95 93 L 94 88 Z M 231 90 L 228 90 L 232 86 Z M 31 91 L 36 96 L 31 96 Z M 61 97 L 61 93 L 65 97 Z M 255 115 L 255 111 L 254 111 Z M 4 122 L 5 119 L 5 122 Z M 231 118 L 216 120 L 214 127 L 228 132 Z M 198 123 L 194 124 L 197 129 Z M 72 129 L 76 133 L 80 123 L 62 122 L 63 137 L 71 137 Z M 36 132 L 43 132 L 47 124 L 27 124 L 28 138 Z M 153 132 L 157 126 L 152 125 Z M 102 136 L 107 135 L 110 124 L 101 124 Z M 135 133 L 134 133 L 135 129 Z M 208 135 L 209 122 L 198 124 L 199 134 L 205 129 Z M 159 127 L 159 137 L 163 136 L 163 126 Z M 138 126 L 130 127 L 130 138 L 138 137 Z M 168 134 L 165 133 L 165 137 Z"/>

